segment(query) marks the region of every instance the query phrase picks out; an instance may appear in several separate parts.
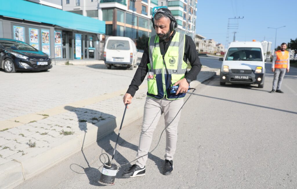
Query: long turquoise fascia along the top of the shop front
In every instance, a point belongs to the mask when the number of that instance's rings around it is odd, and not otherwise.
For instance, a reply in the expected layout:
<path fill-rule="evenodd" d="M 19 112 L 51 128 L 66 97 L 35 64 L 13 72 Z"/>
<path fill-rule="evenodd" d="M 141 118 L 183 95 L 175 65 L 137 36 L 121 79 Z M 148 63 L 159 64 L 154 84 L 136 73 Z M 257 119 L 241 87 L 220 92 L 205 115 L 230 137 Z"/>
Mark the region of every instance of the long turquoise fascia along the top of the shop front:
<path fill-rule="evenodd" d="M 3 16 L 105 34 L 105 21 L 23 0 L 0 0 L 0 4 L 0 15 Z"/>

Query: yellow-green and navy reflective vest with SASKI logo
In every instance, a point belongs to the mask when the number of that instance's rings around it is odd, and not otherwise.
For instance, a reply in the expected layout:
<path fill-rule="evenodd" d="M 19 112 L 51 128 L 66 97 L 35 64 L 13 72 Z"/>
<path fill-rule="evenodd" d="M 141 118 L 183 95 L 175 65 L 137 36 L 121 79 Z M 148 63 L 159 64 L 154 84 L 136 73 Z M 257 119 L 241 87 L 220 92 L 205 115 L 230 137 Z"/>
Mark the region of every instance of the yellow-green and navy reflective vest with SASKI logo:
<path fill-rule="evenodd" d="M 184 74 L 187 71 L 187 63 L 184 62 L 184 46 L 185 35 L 176 32 L 173 36 L 168 50 L 165 53 L 165 63 L 168 69 L 168 78 L 171 79 L 172 85 L 178 80 L 184 78 Z M 157 35 L 152 36 L 149 39 L 149 63 L 147 64 L 149 72 L 153 72 L 154 78 L 148 80 L 148 96 L 156 99 L 163 99 L 165 96 L 169 100 L 176 100 L 184 98 L 185 93 L 179 93 L 178 95 L 171 94 L 170 84 L 167 79 L 165 65 L 163 63 L 163 57 L 160 52 L 159 37 Z"/>

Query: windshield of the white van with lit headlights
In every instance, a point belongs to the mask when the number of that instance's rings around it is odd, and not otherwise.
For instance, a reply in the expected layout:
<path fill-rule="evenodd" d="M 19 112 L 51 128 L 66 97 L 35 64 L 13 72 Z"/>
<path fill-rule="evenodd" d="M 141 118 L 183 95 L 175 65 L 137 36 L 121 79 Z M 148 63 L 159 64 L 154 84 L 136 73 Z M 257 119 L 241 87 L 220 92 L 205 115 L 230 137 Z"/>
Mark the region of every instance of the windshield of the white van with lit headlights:
<path fill-rule="evenodd" d="M 230 48 L 225 60 L 262 61 L 262 52 L 260 48 Z"/>

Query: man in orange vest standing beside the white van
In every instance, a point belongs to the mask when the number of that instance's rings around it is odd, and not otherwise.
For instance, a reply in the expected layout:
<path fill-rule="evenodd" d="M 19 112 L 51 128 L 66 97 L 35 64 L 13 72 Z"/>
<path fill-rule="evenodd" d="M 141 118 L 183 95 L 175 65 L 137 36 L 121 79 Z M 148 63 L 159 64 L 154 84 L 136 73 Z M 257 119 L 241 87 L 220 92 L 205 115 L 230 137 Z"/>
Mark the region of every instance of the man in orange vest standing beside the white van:
<path fill-rule="evenodd" d="M 270 93 L 284 93 L 280 90 L 282 79 L 285 76 L 286 70 L 290 70 L 290 54 L 286 51 L 287 44 L 282 43 L 280 50 L 276 51 L 272 60 L 272 72 L 274 72 L 273 85 Z"/>

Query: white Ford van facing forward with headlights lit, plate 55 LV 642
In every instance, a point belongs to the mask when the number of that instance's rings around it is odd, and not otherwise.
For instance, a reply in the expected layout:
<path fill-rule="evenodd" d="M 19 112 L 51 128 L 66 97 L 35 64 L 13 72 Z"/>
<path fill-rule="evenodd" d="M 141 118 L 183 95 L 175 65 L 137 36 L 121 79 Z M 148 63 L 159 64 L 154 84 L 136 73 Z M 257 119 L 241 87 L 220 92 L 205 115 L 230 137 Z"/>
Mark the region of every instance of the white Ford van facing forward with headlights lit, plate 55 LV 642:
<path fill-rule="evenodd" d="M 231 42 L 223 58 L 220 85 L 258 84 L 264 87 L 265 59 L 262 44 L 258 41 Z"/>

